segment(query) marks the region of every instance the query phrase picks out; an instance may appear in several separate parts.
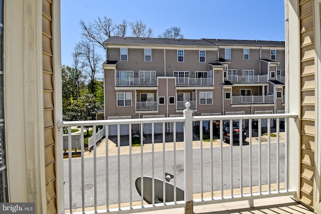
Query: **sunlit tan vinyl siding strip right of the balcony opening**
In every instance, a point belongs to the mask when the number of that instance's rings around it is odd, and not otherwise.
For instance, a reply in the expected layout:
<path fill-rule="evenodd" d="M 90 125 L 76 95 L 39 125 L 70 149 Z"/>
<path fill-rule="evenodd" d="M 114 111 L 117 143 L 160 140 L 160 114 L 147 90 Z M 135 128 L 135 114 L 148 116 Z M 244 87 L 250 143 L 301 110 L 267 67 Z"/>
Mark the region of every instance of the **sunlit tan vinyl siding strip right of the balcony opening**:
<path fill-rule="evenodd" d="M 301 164 L 299 200 L 313 207 L 315 82 L 313 1 L 300 1 Z"/>

